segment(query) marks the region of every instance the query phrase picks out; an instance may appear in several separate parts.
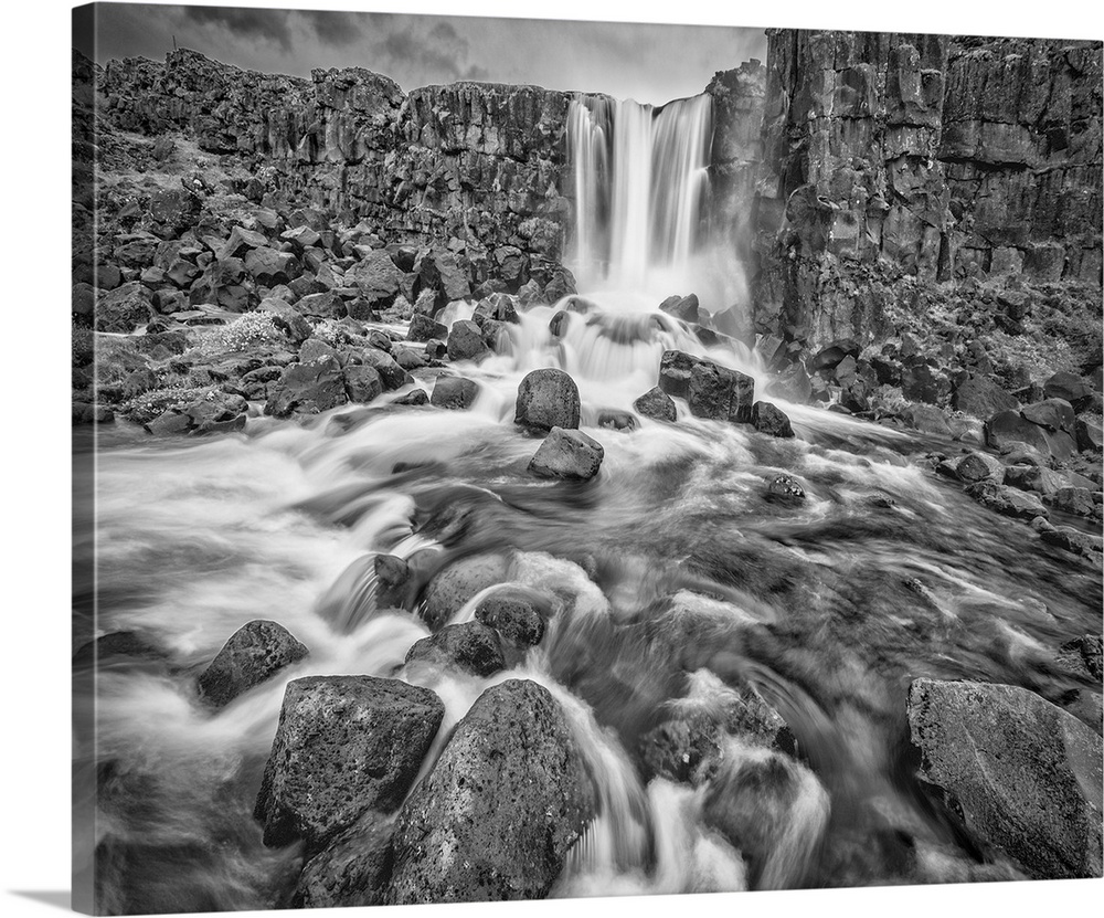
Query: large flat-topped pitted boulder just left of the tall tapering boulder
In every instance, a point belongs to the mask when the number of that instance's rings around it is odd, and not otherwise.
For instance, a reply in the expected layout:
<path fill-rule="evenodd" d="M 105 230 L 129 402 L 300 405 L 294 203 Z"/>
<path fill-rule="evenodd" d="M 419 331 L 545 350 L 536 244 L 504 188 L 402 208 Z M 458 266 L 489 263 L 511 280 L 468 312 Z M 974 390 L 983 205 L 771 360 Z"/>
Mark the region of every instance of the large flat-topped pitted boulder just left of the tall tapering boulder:
<path fill-rule="evenodd" d="M 428 689 L 372 676 L 288 683 L 254 816 L 266 845 L 308 852 L 365 812 L 397 806 L 445 715 Z"/>

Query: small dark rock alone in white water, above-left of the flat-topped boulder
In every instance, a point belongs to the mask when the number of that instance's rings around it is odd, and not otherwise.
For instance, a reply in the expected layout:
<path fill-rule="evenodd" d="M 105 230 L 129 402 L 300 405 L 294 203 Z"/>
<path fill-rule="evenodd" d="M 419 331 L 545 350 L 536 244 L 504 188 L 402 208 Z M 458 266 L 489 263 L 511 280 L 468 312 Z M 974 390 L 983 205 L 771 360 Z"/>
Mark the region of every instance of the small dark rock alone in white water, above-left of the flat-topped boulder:
<path fill-rule="evenodd" d="M 200 695 L 221 708 L 308 653 L 283 625 L 261 619 L 250 622 L 234 632 L 203 671 Z"/>

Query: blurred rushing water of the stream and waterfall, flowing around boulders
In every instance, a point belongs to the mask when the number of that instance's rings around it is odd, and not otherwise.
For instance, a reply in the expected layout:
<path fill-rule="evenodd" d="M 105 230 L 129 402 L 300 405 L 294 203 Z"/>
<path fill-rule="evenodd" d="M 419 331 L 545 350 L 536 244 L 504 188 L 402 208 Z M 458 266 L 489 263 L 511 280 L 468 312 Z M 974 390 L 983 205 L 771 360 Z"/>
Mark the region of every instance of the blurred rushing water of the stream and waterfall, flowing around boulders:
<path fill-rule="evenodd" d="M 664 124 L 666 113 L 677 124 Z M 618 189 L 603 199 L 607 218 L 592 213 L 578 230 L 604 277 L 581 283 L 590 302 L 576 304 L 583 312 L 570 314 L 562 337 L 549 331 L 558 307 L 535 307 L 511 327 L 509 354 L 456 365 L 480 386 L 471 410 L 391 407 L 400 391 L 307 422 L 258 407 L 244 433 L 212 439 L 97 431 L 95 630 L 135 632 L 164 654 L 110 658 L 95 680 L 104 910 L 265 908 L 294 883 L 299 852 L 265 848 L 252 809 L 284 688 L 315 674 L 420 680 L 446 706 L 438 739 L 488 685 L 523 677 L 548 687 L 601 804 L 558 895 L 749 886 L 741 853 L 705 826 L 707 794 L 644 783 L 633 755 L 672 703 L 708 706 L 736 679 L 779 711 L 803 773 L 816 775 L 787 810 L 758 885 L 965 878 L 975 853 L 911 777 L 909 682 L 968 676 L 1060 694 L 1066 677 L 1049 660 L 1063 641 L 1098 631 L 1098 571 L 920 462 L 956 444 L 781 401 L 793 440 L 694 419 L 684 403 L 677 425 L 598 426 L 605 411 L 633 413 L 666 349 L 751 372 L 761 392 L 767 379 L 749 354 L 705 348 L 656 308 L 693 289 L 692 277 L 657 288 L 647 266 L 692 264 L 698 148 L 673 145 L 688 124 L 708 140 L 708 104 L 680 103 L 655 122 L 643 109 L 614 118 L 576 104 L 573 118 L 585 128 L 575 140 L 591 150 L 586 161 L 612 171 Z M 625 154 L 603 139 L 611 122 L 618 147 L 651 145 L 633 166 L 645 178 L 620 175 Z M 634 143 L 634 133 L 647 139 Z M 604 186 L 577 170 L 582 199 L 593 199 Z M 652 170 L 660 181 L 647 178 Z M 634 217 L 629 201 L 660 217 Z M 656 221 L 669 232 L 640 229 Z M 612 241 L 622 254 L 611 254 Z M 633 271 L 647 283 L 625 283 Z M 471 308 L 456 304 L 440 320 Z M 514 425 L 514 398 L 528 371 L 550 366 L 577 382 L 581 428 L 605 450 L 591 482 L 526 471 L 538 442 Z M 93 449 L 92 435 L 77 449 Z M 804 503 L 765 497 L 783 473 L 803 483 Z M 92 496 L 78 495 L 78 506 Z M 89 558 L 92 546 L 76 551 Z M 511 589 L 553 606 L 540 647 L 487 679 L 404 669 L 428 630 L 416 616 L 379 613 L 363 559 L 426 551 L 440 552 L 437 562 L 509 552 Z M 78 613 L 88 614 L 93 584 L 76 587 Z M 454 621 L 469 619 L 481 595 Z M 258 618 L 283 624 L 310 655 L 211 714 L 194 677 Z M 78 678 L 91 676 L 78 669 Z"/>

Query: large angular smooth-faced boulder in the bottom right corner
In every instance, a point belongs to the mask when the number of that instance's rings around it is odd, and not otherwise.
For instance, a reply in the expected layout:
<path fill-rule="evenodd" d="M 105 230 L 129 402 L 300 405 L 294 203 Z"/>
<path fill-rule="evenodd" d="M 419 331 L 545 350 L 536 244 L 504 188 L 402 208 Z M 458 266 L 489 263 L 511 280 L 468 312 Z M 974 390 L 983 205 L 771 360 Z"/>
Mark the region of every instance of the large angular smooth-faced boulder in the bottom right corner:
<path fill-rule="evenodd" d="M 916 679 L 920 777 L 1030 876 L 1101 876 L 1101 737 L 1012 685 Z"/>

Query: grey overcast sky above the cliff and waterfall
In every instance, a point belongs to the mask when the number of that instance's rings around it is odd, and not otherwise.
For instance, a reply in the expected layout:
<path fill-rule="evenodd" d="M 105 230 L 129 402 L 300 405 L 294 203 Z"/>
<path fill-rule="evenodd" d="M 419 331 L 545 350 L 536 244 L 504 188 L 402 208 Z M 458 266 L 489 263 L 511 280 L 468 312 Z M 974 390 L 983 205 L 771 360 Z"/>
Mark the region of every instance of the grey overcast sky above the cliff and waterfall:
<path fill-rule="evenodd" d="M 404 89 L 481 80 L 658 105 L 700 93 L 715 71 L 766 56 L 762 29 L 734 27 L 129 3 L 98 10 L 99 63 L 161 61 L 176 36 L 181 48 L 240 67 L 309 76 L 312 67 L 355 65 Z"/>

